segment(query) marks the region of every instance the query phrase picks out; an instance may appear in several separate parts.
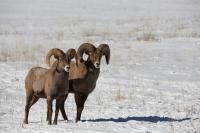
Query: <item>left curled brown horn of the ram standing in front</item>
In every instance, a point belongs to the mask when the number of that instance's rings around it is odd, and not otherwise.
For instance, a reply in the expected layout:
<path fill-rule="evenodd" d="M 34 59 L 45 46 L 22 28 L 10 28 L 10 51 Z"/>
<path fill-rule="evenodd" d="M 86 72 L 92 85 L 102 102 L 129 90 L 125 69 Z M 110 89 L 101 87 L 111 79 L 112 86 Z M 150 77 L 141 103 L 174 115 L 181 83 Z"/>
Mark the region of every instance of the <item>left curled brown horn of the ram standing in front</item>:
<path fill-rule="evenodd" d="M 59 58 L 64 57 L 65 53 L 58 48 L 53 48 L 53 49 L 49 50 L 49 52 L 46 55 L 46 64 L 48 66 L 51 66 L 50 65 L 50 58 L 51 58 L 52 55 L 54 56 L 54 58 L 56 58 L 58 60 Z"/>

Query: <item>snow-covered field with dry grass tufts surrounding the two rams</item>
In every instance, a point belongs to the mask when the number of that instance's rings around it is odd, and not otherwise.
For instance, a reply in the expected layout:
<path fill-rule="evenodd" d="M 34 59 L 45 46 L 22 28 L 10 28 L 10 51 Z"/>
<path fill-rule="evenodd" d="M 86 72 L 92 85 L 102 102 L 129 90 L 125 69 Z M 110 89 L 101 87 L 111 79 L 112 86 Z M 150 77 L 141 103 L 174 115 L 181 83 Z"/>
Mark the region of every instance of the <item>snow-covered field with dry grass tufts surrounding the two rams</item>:
<path fill-rule="evenodd" d="M 75 123 L 40 99 L 24 125 L 24 79 L 47 51 L 108 43 L 97 87 Z M 0 0 L 0 132 L 200 133 L 199 0 Z"/>

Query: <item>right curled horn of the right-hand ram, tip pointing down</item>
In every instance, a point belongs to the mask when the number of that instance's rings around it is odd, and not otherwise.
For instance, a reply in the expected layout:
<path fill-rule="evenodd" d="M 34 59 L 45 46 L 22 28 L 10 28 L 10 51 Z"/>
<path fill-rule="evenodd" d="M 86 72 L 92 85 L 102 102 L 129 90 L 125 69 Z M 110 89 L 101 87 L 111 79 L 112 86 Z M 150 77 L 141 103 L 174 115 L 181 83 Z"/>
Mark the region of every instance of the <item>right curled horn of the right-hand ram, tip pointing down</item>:
<path fill-rule="evenodd" d="M 106 63 L 109 64 L 109 60 L 110 60 L 110 47 L 108 46 L 108 44 L 100 44 L 98 46 L 98 49 L 103 53 L 103 55 L 105 55 Z"/>

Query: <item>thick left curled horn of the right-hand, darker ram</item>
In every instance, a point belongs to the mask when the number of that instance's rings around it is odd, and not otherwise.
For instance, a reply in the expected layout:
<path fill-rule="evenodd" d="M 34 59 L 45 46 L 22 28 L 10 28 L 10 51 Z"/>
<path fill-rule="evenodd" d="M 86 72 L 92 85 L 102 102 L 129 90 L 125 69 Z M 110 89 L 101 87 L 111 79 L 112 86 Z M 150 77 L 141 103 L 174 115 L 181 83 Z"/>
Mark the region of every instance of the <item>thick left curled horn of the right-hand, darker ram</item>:
<path fill-rule="evenodd" d="M 77 54 L 80 58 L 82 58 L 84 52 L 87 55 L 89 55 L 90 52 L 94 52 L 95 50 L 96 50 L 96 47 L 93 44 L 83 43 L 83 44 L 81 44 L 81 46 L 79 46 Z"/>

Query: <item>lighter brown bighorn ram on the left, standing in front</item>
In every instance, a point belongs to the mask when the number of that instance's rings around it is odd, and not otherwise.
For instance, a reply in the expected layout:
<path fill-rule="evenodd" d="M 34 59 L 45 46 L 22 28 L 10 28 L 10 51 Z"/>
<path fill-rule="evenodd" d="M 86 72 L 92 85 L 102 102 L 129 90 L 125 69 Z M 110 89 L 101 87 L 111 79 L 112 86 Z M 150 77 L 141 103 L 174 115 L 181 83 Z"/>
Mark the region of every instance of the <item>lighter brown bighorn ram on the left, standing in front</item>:
<path fill-rule="evenodd" d="M 31 106 L 39 98 L 47 99 L 47 119 L 51 124 L 52 101 L 56 99 L 56 110 L 54 124 L 57 124 L 57 117 L 60 104 L 65 99 L 69 90 L 69 69 L 71 59 L 76 56 L 75 49 L 69 49 L 66 53 L 58 48 L 49 50 L 46 56 L 46 63 L 50 66 L 50 57 L 54 55 L 58 61 L 49 69 L 35 67 L 32 68 L 25 79 L 26 106 L 24 123 L 28 124 L 28 114 Z"/>

